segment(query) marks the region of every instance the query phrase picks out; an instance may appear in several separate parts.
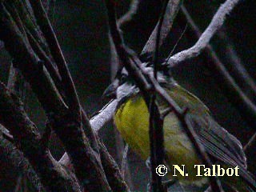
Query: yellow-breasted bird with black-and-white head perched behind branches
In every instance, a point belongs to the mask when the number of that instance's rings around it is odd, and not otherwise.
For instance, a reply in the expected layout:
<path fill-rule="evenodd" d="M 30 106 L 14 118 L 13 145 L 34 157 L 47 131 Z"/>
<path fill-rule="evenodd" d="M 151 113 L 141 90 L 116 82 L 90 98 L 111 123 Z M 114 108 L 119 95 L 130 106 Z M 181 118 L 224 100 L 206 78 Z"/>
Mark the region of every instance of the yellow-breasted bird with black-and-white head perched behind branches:
<path fill-rule="evenodd" d="M 142 63 L 148 73 L 153 73 L 150 62 Z M 178 106 L 188 109 L 192 117 L 194 131 L 204 146 L 212 162 L 226 168 L 238 166 L 239 176 L 219 177 L 222 186 L 239 192 L 256 191 L 254 176 L 247 171 L 246 155 L 242 145 L 232 134 L 215 122 L 207 106 L 194 94 L 179 86 L 169 73 L 169 67 L 163 62 L 158 71 L 158 82 L 166 90 Z M 125 68 L 120 70 L 114 82 L 106 89 L 105 96 L 115 96 L 118 106 L 114 114 L 114 123 L 128 143 L 143 160 L 150 157 L 149 118 L 150 114 L 142 94 L 134 80 Z M 165 163 L 186 166 L 188 177 L 178 174 L 178 181 L 182 185 L 203 186 L 209 184 L 207 177 L 197 177 L 194 165 L 202 164 L 190 138 L 182 128 L 178 117 L 169 110 L 168 104 L 162 98 L 156 98 L 160 114 L 166 113 L 163 122 Z M 168 172 L 167 177 L 172 179 Z M 230 190 L 226 190 L 230 191 Z"/>

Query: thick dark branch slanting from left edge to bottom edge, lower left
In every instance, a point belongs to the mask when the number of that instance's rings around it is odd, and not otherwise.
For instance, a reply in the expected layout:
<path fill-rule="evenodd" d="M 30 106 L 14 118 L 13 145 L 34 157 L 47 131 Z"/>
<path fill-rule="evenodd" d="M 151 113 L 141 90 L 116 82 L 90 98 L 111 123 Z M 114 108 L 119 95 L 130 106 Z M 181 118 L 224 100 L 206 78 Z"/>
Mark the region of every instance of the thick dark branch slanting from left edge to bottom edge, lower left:
<path fill-rule="evenodd" d="M 47 190 L 80 192 L 80 186 L 72 174 L 55 162 L 49 150 L 41 150 L 41 136 L 37 127 L 26 116 L 22 102 L 7 90 L 2 82 L 0 83 L 0 123 L 10 130 L 16 146 L 29 159 Z"/>

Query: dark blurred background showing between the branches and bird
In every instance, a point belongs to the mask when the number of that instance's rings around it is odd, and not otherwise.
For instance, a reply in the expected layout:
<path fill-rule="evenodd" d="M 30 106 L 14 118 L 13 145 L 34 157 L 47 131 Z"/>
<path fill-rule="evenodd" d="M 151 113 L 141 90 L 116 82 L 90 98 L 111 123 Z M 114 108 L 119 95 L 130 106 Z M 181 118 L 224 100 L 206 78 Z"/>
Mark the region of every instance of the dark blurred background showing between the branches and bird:
<path fill-rule="evenodd" d="M 186 1 L 186 7 L 197 22 L 201 30 L 209 24 L 210 19 L 218 6 L 224 1 Z M 250 75 L 256 78 L 256 9 L 255 1 L 242 1 L 226 20 L 227 35 L 234 43 L 238 56 L 246 66 Z M 129 1 L 120 1 L 118 4 L 118 14 L 126 13 L 129 8 Z M 157 8 L 157 7 L 156 7 Z M 152 9 L 152 7 L 151 7 Z M 103 1 L 68 1 L 57 0 L 54 8 L 51 7 L 51 21 L 54 25 L 63 53 L 69 63 L 70 73 L 74 78 L 74 83 L 78 89 L 78 95 L 82 106 L 87 113 L 93 114 L 100 110 L 105 102 L 102 102 L 101 95 L 110 83 L 110 45 L 108 40 L 108 27 L 106 21 L 106 10 Z M 148 15 L 150 18 L 151 15 Z M 155 18 L 152 15 L 152 18 Z M 142 50 L 142 46 L 150 35 L 150 30 L 154 19 L 142 22 L 132 30 L 123 29 L 126 42 L 134 50 Z M 182 33 L 183 26 L 174 23 L 166 43 L 162 46 L 162 55 L 167 56 L 172 50 L 178 37 Z M 222 53 L 222 42 L 217 38 L 213 39 L 213 46 L 219 56 L 224 59 Z M 194 42 L 190 40 L 190 34 L 186 34 L 175 52 L 188 48 Z M 234 134 L 245 144 L 252 133 L 254 127 L 241 117 L 242 111 L 238 111 L 226 98 L 219 82 L 216 82 L 216 75 L 212 73 L 206 65 L 205 59 L 198 57 L 186 63 L 182 63 L 173 70 L 176 80 L 187 90 L 201 98 L 210 108 L 214 118 Z M 7 81 L 10 67 L 10 57 L 4 49 L 0 50 L 0 79 Z M 43 91 L 43 90 L 42 90 Z M 38 127 L 42 129 L 45 116 L 34 95 L 27 93 L 27 112 Z M 100 130 L 100 136 L 106 143 L 110 154 L 116 156 L 115 134 L 113 126 L 105 126 Z M 51 139 L 51 147 L 56 158 L 62 156 L 63 150 L 58 138 Z M 249 169 L 255 174 L 254 165 L 255 146 L 252 146 L 247 154 Z M 1 155 L 1 154 L 0 154 Z M 0 156 L 1 157 L 1 156 Z M 146 190 L 148 182 L 148 172 L 139 158 L 129 153 L 130 172 L 134 182 L 134 190 Z M 18 173 L 11 168 L 10 162 L 1 161 L 0 165 L 0 192 L 14 191 Z"/>

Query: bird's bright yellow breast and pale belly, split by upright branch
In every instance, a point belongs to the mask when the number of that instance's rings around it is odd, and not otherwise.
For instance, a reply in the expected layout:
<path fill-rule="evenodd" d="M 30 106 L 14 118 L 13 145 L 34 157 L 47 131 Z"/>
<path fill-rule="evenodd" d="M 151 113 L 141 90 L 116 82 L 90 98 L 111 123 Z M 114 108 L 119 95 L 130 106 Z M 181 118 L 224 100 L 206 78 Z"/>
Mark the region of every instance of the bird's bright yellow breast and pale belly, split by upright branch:
<path fill-rule="evenodd" d="M 130 148 L 142 159 L 149 158 L 149 112 L 142 96 L 134 96 L 120 106 L 114 116 L 114 122 Z M 168 166 L 186 165 L 187 172 L 193 175 L 194 164 L 200 164 L 200 160 L 189 138 L 184 134 L 178 118 L 173 113 L 166 116 L 163 129 Z M 178 178 L 182 180 L 184 177 Z M 198 178 L 190 177 L 187 179 L 194 181 Z"/>

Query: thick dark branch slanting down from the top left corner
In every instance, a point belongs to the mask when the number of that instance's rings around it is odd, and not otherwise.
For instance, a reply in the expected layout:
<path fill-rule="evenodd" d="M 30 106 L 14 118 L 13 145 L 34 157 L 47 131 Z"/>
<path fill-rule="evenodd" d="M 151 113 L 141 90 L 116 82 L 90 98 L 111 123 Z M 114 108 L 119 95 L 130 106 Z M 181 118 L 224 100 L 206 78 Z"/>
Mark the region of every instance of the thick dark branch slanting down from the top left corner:
<path fill-rule="evenodd" d="M 5 42 L 6 50 L 18 64 L 16 67 L 22 71 L 26 81 L 30 82 L 32 90 L 37 94 L 46 113 L 63 111 L 66 105 L 62 102 L 62 98 L 56 94 L 56 89 L 46 76 L 42 61 L 34 54 L 29 42 L 23 38 L 16 22 L 3 4 L 0 5 L 0 10 L 0 38 Z M 12 38 L 9 38 L 10 35 Z"/>

